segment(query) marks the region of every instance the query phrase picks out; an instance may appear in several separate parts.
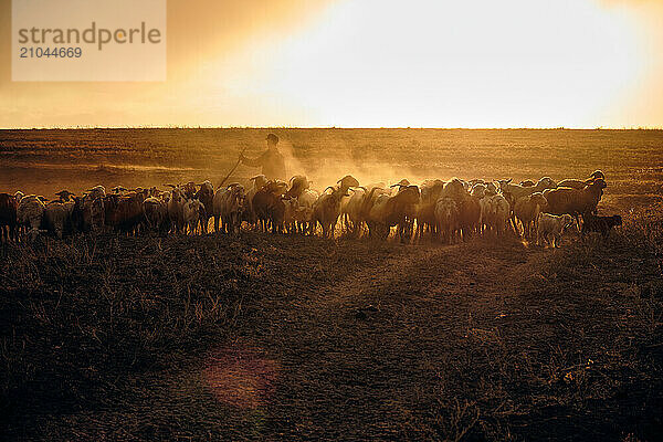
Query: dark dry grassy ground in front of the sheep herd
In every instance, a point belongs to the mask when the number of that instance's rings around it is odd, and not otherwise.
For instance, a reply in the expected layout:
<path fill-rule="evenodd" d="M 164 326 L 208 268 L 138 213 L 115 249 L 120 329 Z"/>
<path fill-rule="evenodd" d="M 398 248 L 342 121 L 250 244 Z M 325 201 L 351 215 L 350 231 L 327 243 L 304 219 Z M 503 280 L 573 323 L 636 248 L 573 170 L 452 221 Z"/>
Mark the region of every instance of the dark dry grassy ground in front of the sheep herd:
<path fill-rule="evenodd" d="M 3 245 L 3 439 L 657 440 L 662 181 L 634 157 L 600 207 L 624 225 L 559 250 L 254 232 Z"/>

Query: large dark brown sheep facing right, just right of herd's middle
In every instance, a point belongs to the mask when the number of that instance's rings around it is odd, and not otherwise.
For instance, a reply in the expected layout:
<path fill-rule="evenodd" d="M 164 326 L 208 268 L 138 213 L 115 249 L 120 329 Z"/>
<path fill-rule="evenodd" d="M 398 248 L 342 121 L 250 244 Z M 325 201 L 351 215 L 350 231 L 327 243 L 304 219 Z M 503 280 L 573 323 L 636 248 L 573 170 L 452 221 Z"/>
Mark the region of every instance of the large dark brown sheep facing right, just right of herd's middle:
<path fill-rule="evenodd" d="M 402 187 L 397 194 L 389 197 L 380 194 L 373 199 L 375 189 L 369 192 L 367 201 L 375 201 L 368 211 L 368 229 L 371 236 L 386 239 L 390 228 L 397 227 L 397 236 L 401 242 L 409 234 L 408 218 L 414 213 L 420 201 L 421 192 L 418 186 Z"/>

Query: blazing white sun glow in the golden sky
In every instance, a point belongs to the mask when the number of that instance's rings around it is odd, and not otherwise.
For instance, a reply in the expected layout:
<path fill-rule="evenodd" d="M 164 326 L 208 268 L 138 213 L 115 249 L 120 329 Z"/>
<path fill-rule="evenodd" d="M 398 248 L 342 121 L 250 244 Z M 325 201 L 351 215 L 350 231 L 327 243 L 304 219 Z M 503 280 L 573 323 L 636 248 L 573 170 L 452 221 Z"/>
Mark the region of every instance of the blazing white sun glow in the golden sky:
<path fill-rule="evenodd" d="M 622 9 L 590 0 L 341 1 L 245 50 L 224 91 L 276 125 L 593 127 L 636 84 L 639 48 Z"/>

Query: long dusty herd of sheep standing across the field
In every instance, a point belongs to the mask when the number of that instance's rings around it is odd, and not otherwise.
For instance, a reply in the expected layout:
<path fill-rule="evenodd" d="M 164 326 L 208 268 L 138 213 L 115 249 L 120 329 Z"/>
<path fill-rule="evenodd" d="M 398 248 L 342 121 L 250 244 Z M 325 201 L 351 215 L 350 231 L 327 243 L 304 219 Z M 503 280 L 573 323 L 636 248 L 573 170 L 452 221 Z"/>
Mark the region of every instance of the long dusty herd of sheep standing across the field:
<path fill-rule="evenodd" d="M 475 235 L 522 236 L 558 246 L 565 230 L 607 235 L 621 224 L 619 215 L 599 217 L 597 206 L 607 187 L 600 170 L 588 179 L 555 182 L 549 177 L 514 183 L 508 180 L 407 179 L 387 186 L 360 185 L 345 176 L 323 192 L 302 175 L 288 182 L 260 175 L 245 186 L 214 190 L 210 181 L 166 185 L 168 190 L 96 186 L 82 196 L 63 190 L 49 201 L 36 194 L 0 193 L 2 241 L 31 242 L 40 234 L 56 238 L 106 230 L 126 234 L 236 234 L 242 229 L 272 233 L 322 234 L 401 242 L 424 239 L 454 243 Z M 580 217 L 582 224 L 580 224 Z"/>

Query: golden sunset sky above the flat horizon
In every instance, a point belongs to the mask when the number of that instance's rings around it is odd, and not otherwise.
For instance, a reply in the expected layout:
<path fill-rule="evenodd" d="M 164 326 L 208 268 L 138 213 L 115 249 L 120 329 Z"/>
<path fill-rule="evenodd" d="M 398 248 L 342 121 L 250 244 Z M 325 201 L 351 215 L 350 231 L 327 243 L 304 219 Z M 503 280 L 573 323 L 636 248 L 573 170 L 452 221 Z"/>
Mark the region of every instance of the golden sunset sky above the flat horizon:
<path fill-rule="evenodd" d="M 663 1 L 169 0 L 154 83 L 12 82 L 0 4 L 0 127 L 663 126 Z"/>

